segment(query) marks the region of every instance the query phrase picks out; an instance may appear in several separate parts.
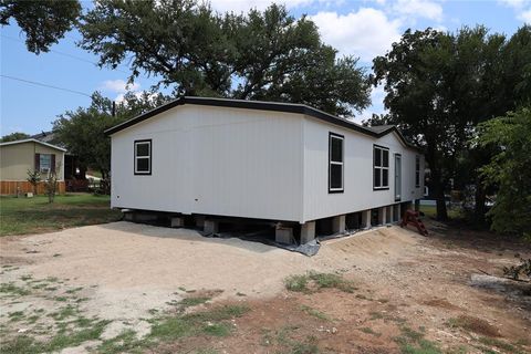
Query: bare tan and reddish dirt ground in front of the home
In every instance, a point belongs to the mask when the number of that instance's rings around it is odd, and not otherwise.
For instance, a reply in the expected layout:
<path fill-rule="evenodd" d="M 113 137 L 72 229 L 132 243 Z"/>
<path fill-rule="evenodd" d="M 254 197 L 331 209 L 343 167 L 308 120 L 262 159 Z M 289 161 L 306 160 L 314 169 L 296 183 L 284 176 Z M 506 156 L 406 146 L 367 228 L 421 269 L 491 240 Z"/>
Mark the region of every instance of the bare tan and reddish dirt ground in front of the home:
<path fill-rule="evenodd" d="M 2 336 L 45 340 L 53 326 L 42 317 L 32 324 L 28 313 L 56 319 L 65 301 L 105 322 L 100 337 L 63 352 L 105 352 L 98 350 L 105 339 L 126 330 L 142 337 L 155 314 L 208 291 L 214 299 L 199 311 L 249 308 L 231 320 L 231 334 L 184 336 L 149 352 L 530 353 L 531 296 L 522 293 L 529 289 L 490 277 L 530 257 L 529 248 L 435 221 L 427 227 L 428 238 L 394 226 L 324 241 L 311 258 L 128 222 L 6 237 Z M 308 272 L 339 274 L 352 289 L 285 289 L 288 277 Z"/>

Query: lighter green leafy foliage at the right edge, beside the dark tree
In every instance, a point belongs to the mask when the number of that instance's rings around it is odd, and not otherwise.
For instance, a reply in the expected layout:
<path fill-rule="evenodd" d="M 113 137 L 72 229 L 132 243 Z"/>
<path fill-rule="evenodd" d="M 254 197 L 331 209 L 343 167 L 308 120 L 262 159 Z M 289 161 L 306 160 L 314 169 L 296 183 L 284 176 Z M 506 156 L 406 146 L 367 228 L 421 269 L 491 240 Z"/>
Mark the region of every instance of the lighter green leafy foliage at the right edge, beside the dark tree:
<path fill-rule="evenodd" d="M 479 125 L 480 146 L 496 148 L 491 162 L 481 168 L 487 184 L 498 187 L 489 211 L 492 229 L 530 236 L 531 225 L 531 107 Z"/>

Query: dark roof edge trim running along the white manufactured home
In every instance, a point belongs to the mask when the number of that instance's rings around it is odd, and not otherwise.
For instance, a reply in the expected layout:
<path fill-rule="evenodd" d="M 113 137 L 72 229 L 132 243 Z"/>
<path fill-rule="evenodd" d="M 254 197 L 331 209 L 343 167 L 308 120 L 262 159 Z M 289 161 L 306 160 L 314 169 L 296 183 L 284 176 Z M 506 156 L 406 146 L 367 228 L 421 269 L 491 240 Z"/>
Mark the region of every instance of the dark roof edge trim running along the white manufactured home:
<path fill-rule="evenodd" d="M 133 125 L 136 125 L 140 122 L 149 119 L 150 117 L 171 110 L 173 107 L 184 105 L 184 104 L 196 104 L 196 105 L 206 105 L 206 106 L 218 106 L 218 107 L 231 107 L 231 108 L 247 108 L 247 110 L 260 110 L 260 111 L 274 111 L 274 112 L 285 112 L 285 113 L 296 113 L 296 114 L 305 114 L 311 117 L 325 121 L 327 123 L 343 126 L 350 128 L 352 131 L 369 135 L 373 137 L 382 137 L 387 135 L 392 132 L 396 132 L 404 143 L 404 145 L 419 150 L 418 146 L 409 143 L 404 138 L 402 133 L 396 128 L 396 126 L 389 126 L 389 128 L 384 129 L 382 132 L 375 132 L 362 125 L 358 125 L 354 122 L 340 118 L 335 115 L 325 113 L 323 111 L 306 106 L 304 104 L 296 104 L 296 103 L 278 103 L 278 102 L 261 102 L 261 101 L 244 101 L 244 100 L 230 100 L 230 98 L 208 98 L 208 97 L 191 97 L 191 96 L 181 96 L 174 101 L 170 101 L 155 110 L 148 111 L 144 114 L 140 114 L 136 117 L 133 117 L 128 121 L 125 121 L 118 125 L 115 125 L 105 131 L 106 135 L 112 135 L 125 128 L 128 128 Z"/>

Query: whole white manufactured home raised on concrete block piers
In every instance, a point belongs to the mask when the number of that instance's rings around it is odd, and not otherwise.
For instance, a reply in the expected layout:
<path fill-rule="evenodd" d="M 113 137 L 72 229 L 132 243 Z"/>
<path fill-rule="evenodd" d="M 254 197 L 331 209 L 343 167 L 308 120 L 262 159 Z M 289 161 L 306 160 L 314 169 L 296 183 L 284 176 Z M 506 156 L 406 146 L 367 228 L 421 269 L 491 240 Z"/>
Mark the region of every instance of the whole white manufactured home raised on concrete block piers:
<path fill-rule="evenodd" d="M 112 207 L 277 222 L 277 240 L 396 221 L 423 197 L 424 156 L 394 126 L 302 104 L 180 97 L 106 132 Z M 205 221 L 206 220 L 206 221 Z"/>

